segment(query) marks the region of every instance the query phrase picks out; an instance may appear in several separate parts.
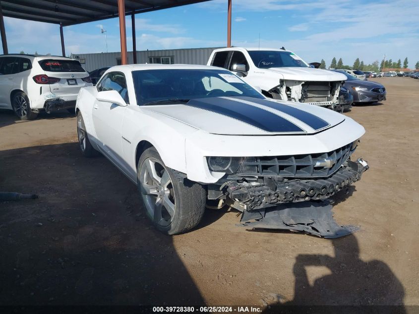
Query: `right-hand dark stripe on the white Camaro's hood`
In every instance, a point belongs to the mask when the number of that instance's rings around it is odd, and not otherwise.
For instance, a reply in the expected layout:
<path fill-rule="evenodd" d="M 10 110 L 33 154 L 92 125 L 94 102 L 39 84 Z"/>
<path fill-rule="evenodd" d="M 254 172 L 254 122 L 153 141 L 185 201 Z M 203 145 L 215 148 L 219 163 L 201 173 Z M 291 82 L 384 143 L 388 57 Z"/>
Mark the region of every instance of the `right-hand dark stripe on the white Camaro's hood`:
<path fill-rule="evenodd" d="M 259 104 L 259 105 L 267 106 L 275 110 L 279 110 L 287 115 L 290 115 L 298 119 L 299 121 L 305 123 L 307 126 L 310 126 L 315 130 L 319 130 L 326 126 L 330 126 L 330 124 L 328 124 L 323 119 L 320 119 L 319 117 L 313 114 L 310 114 L 303 110 L 299 110 L 291 106 L 287 106 L 287 105 L 280 104 L 280 103 L 270 101 L 270 100 L 258 99 L 258 98 L 252 98 L 252 97 L 238 97 L 238 98 L 241 98 L 243 100 L 247 100 L 247 101 Z"/>

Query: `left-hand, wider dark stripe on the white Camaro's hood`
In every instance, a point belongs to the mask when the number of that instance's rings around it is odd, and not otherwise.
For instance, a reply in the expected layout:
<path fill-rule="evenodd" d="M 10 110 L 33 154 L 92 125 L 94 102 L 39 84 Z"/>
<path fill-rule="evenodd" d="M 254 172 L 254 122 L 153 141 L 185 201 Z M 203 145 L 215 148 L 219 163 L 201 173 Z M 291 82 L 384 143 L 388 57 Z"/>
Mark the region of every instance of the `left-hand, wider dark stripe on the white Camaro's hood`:
<path fill-rule="evenodd" d="M 191 99 L 185 105 L 215 112 L 267 132 L 305 132 L 299 126 L 272 112 L 230 99 L 220 97 Z"/>

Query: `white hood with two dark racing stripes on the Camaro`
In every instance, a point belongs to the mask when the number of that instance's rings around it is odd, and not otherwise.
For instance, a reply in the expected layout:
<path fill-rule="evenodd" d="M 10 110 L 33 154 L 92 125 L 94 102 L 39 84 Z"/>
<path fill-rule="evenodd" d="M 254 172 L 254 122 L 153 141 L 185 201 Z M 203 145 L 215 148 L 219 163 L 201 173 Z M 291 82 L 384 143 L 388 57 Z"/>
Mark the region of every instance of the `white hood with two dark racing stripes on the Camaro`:
<path fill-rule="evenodd" d="M 251 97 L 210 97 L 141 107 L 212 134 L 307 135 L 342 123 L 345 116 L 300 103 Z"/>

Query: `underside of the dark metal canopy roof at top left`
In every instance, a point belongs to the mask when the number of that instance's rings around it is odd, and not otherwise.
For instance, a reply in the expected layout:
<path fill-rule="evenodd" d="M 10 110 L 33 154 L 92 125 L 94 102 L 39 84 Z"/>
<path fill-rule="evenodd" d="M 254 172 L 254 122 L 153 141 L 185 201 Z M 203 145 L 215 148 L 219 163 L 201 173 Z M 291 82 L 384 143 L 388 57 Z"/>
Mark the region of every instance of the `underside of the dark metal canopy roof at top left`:
<path fill-rule="evenodd" d="M 208 0 L 125 0 L 125 14 L 155 11 Z M 62 24 L 118 17 L 117 0 L 1 0 L 3 16 Z"/>

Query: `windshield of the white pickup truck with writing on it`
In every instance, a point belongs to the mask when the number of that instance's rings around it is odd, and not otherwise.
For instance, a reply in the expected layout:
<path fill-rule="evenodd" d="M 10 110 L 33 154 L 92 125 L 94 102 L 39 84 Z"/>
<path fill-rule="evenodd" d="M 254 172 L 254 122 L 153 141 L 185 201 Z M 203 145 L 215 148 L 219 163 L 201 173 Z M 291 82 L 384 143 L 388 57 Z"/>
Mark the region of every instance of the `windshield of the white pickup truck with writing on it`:
<path fill-rule="evenodd" d="M 309 67 L 299 56 L 289 51 L 248 51 L 254 65 L 259 68 L 269 67 Z"/>

